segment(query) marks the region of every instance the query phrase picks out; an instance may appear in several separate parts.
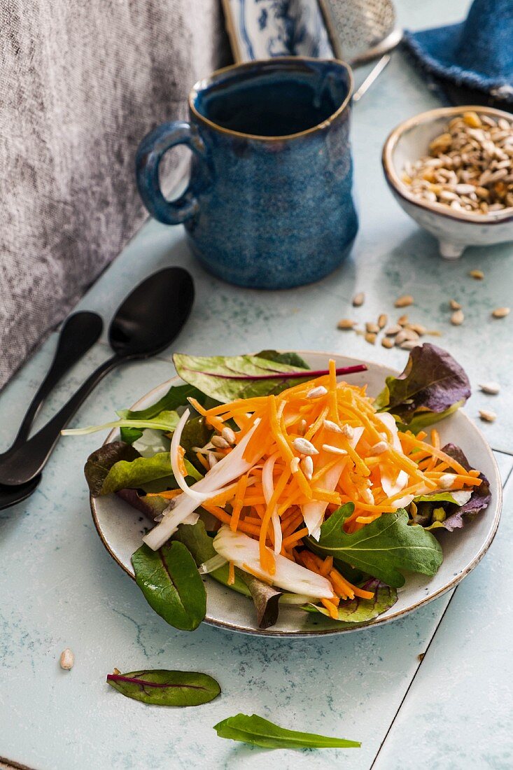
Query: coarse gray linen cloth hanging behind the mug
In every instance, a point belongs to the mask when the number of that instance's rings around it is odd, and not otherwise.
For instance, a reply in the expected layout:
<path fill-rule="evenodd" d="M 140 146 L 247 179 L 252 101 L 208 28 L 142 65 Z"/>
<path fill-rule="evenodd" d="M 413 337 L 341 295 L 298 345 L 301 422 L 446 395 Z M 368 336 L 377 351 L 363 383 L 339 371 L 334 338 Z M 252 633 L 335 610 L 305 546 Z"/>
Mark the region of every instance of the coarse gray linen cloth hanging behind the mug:
<path fill-rule="evenodd" d="M 0 387 L 136 232 L 137 144 L 226 51 L 219 0 L 0 0 Z"/>

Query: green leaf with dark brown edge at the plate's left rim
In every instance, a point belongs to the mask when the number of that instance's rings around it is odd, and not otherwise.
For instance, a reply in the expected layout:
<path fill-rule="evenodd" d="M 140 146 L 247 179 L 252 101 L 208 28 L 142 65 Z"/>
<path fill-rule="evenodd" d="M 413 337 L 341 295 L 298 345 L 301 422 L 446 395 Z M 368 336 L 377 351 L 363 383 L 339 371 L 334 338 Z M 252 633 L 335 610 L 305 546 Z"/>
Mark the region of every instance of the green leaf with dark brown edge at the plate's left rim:
<path fill-rule="evenodd" d="M 84 473 L 89 490 L 94 497 L 126 488 L 144 488 L 150 481 L 155 480 L 161 481 L 162 488 L 159 491 L 167 487 L 176 487 L 169 452 L 159 452 L 153 457 L 141 457 L 139 452 L 128 444 L 122 444 L 120 441 L 114 444 L 127 447 L 124 452 L 129 455 L 129 460 L 117 460 L 107 468 L 105 460 L 102 464 L 102 457 L 108 456 L 112 459 L 116 455 L 116 450 L 108 450 L 106 447 L 111 447 L 112 444 L 104 444 L 99 450 L 93 452 L 86 462 Z M 189 477 L 199 481 L 202 476 L 189 463 L 189 460 L 184 461 Z"/>

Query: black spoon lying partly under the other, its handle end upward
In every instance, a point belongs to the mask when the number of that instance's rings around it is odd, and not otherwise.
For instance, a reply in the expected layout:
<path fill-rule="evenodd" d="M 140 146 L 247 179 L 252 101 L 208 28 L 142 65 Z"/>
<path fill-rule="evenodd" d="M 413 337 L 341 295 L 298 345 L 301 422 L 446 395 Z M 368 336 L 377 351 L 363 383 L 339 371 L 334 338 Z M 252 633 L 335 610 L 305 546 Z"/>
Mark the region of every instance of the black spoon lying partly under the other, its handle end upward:
<path fill-rule="evenodd" d="M 25 444 L 43 401 L 49 396 L 49 393 L 65 373 L 71 369 L 73 364 L 76 363 L 84 353 L 87 353 L 94 343 L 96 343 L 96 340 L 98 340 L 102 333 L 102 328 L 103 321 L 98 313 L 89 313 L 88 311 L 74 313 L 65 320 L 59 334 L 59 341 L 53 357 L 52 366 L 49 368 L 45 379 L 39 386 L 39 390 L 35 393 L 34 398 L 29 404 L 22 424 L 19 427 L 18 434 L 11 447 L 0 454 L 0 463 L 2 463 L 6 457 L 10 457 L 14 454 L 18 447 Z M 22 487 L 0 486 L 0 511 L 2 508 L 14 505 L 21 500 L 24 500 L 29 494 L 32 494 L 40 480 L 41 477 L 38 476 L 35 477 L 35 479 L 32 479 L 32 481 L 29 481 L 28 484 L 23 484 Z"/>

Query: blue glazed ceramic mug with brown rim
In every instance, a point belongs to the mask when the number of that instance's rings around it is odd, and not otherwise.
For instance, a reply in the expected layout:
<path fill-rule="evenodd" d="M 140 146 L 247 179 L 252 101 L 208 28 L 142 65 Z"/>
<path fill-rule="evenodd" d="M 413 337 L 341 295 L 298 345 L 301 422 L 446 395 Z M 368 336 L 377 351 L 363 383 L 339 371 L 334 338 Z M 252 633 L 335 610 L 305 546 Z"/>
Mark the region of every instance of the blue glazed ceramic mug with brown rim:
<path fill-rule="evenodd" d="M 287 289 L 326 276 L 357 233 L 351 89 L 343 62 L 296 57 L 200 81 L 189 122 L 159 126 L 137 151 L 149 213 L 184 223 L 193 253 L 230 283 Z M 166 201 L 159 162 L 177 144 L 193 152 L 191 176 L 183 196 Z"/>

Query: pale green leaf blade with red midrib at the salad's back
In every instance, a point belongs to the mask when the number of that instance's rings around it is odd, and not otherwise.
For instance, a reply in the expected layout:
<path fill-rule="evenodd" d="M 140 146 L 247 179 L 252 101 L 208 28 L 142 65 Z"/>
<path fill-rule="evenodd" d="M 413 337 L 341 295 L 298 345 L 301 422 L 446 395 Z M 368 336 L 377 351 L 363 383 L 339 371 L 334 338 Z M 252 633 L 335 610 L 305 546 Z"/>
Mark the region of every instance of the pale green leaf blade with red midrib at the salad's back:
<path fill-rule="evenodd" d="M 175 353 L 173 362 L 182 380 L 222 403 L 281 393 L 303 379 L 287 380 L 287 373 L 297 372 L 303 367 L 257 356 L 200 357 Z M 282 373 L 283 377 L 276 377 Z M 267 375 L 270 377 L 267 378 Z M 311 374 L 306 373 L 304 380 L 310 377 Z"/>

